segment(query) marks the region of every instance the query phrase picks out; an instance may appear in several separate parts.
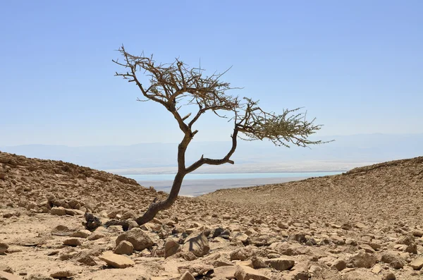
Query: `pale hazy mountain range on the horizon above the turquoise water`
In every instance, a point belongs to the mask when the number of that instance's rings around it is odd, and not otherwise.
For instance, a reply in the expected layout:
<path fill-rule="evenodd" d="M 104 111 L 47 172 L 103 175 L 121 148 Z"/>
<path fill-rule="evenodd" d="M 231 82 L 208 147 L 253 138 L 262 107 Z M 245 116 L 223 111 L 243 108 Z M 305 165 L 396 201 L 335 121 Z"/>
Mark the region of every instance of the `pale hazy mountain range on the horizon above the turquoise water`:
<path fill-rule="evenodd" d="M 275 147 L 268 141 L 238 141 L 235 165 L 202 166 L 199 172 L 266 172 L 348 170 L 356 166 L 423 155 L 423 134 L 362 134 L 326 136 L 335 140 L 311 149 Z M 2 152 L 56 159 L 115 173 L 173 173 L 177 143 L 142 143 L 128 146 L 68 147 L 20 145 L 0 147 Z M 204 157 L 224 157 L 231 142 L 193 142 L 187 165 Z"/>

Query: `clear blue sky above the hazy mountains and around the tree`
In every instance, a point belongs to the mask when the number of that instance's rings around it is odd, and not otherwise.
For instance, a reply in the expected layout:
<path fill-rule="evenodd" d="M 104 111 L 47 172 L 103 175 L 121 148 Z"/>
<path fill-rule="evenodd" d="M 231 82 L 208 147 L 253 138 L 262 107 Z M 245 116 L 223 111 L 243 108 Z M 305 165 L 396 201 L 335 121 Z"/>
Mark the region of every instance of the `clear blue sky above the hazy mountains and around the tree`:
<path fill-rule="evenodd" d="M 423 1 L 1 1 L 0 146 L 178 142 L 171 115 L 114 77 L 124 44 L 224 71 L 319 135 L 423 133 Z M 229 140 L 207 116 L 196 140 Z"/>

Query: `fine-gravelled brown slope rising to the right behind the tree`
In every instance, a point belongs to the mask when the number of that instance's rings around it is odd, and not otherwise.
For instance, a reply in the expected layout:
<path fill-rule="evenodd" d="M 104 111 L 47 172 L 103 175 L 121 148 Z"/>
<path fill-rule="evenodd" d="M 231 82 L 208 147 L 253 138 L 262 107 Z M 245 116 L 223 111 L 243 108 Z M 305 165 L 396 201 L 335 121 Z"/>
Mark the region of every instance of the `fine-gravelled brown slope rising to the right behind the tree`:
<path fill-rule="evenodd" d="M 345 174 L 250 188 L 218 190 L 204 200 L 281 209 L 298 217 L 309 214 L 347 221 L 422 223 L 423 157 L 384 162 Z"/>

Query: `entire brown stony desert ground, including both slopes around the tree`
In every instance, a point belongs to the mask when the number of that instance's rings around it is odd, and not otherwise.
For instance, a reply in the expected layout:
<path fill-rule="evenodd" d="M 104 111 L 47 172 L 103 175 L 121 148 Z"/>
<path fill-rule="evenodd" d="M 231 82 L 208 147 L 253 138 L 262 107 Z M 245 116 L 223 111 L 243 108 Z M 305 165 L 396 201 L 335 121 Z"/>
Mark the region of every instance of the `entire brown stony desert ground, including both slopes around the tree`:
<path fill-rule="evenodd" d="M 423 157 L 179 197 L 86 167 L 0 152 L 0 279 L 423 279 Z"/>

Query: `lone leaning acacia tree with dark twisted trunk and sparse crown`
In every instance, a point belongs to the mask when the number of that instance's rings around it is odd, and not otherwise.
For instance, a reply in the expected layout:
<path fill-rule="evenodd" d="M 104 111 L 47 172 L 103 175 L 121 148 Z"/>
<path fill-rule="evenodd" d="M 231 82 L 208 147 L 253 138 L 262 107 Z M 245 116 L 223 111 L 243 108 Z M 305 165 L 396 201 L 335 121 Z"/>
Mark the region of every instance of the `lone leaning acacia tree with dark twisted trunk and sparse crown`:
<path fill-rule="evenodd" d="M 128 82 L 137 85 L 143 96 L 143 99 L 138 99 L 139 101 L 153 101 L 164 106 L 176 119 L 183 132 L 183 139 L 178 145 L 178 172 L 173 180 L 171 192 L 166 200 L 154 200 L 145 214 L 135 219 L 139 225 L 151 221 L 159 211 L 173 205 L 185 175 L 204 164 L 234 164 L 231 156 L 235 152 L 238 138 L 243 140 L 268 139 L 275 145 L 285 147 L 290 147 L 290 145 L 308 147 L 322 143 L 322 141 L 308 139 L 309 135 L 316 133 L 321 128 L 321 125 L 314 124 L 314 119 L 307 121 L 305 113 L 299 111 L 300 108 L 284 109 L 281 114 L 276 114 L 262 110 L 258 101 L 247 97 L 240 99 L 238 96 L 228 95 L 227 91 L 233 88 L 229 83 L 221 80 L 224 73 L 204 75 L 201 68 L 190 68 L 179 59 L 167 64 L 156 63 L 153 56 L 144 54 L 135 56 L 125 51 L 123 46 L 118 51 L 122 54 L 123 61 L 113 61 L 125 68 L 125 71 L 116 72 L 116 76 L 121 76 Z M 147 76 L 149 83 L 142 84 L 138 75 Z M 182 116 L 180 108 L 183 105 L 196 105 L 196 113 Z M 193 126 L 208 111 L 233 122 L 232 147 L 221 159 L 209 159 L 202 156 L 197 162 L 187 166 L 185 152 L 192 138 L 198 133 Z M 231 114 L 231 116 L 223 115 L 222 112 Z M 125 225 L 127 221 L 109 222 L 110 224 Z"/>

